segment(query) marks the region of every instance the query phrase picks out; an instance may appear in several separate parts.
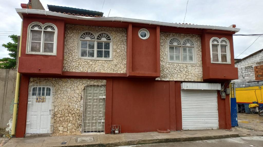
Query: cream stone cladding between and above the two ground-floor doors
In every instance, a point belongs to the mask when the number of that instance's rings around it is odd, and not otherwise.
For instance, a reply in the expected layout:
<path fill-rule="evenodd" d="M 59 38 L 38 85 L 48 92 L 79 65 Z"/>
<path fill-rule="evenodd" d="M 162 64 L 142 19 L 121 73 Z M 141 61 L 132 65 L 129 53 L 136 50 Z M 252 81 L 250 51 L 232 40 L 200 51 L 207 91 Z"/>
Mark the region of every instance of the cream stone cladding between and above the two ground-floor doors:
<path fill-rule="evenodd" d="M 80 134 L 82 90 L 90 84 L 105 85 L 106 80 L 30 78 L 29 87 L 38 80 L 47 80 L 54 85 L 53 135 Z"/>

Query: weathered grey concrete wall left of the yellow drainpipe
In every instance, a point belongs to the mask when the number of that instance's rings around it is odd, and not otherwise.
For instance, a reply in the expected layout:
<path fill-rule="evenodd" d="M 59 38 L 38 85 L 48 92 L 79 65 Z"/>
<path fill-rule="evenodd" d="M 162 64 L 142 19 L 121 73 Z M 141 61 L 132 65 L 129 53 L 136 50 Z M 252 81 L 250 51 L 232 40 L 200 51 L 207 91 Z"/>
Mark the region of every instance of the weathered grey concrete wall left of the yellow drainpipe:
<path fill-rule="evenodd" d="M 16 74 L 16 69 L 0 69 L 0 134 L 11 133 Z"/>

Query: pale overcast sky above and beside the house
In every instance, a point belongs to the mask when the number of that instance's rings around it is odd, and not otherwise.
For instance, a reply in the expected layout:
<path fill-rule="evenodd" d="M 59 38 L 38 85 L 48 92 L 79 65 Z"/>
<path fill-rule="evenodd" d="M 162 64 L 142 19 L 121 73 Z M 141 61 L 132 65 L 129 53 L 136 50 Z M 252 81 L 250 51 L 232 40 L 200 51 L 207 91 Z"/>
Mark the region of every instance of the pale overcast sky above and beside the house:
<path fill-rule="evenodd" d="M 183 23 L 187 0 L 40 0 L 46 10 L 47 4 L 101 11 L 104 16 L 120 16 L 157 20 L 164 22 Z M 8 57 L 3 43 L 11 41 L 8 33 L 20 33 L 21 18 L 15 8 L 21 8 L 21 3 L 28 0 L 6 1 L 0 5 L 0 59 Z M 236 24 L 240 28 L 237 34 L 263 34 L 262 0 L 189 0 L 185 23 L 200 25 L 230 26 Z M 11 32 L 3 32 L 11 31 Z M 262 35 L 263 36 L 263 35 Z M 257 37 L 234 36 L 235 58 L 249 47 Z M 256 52 L 263 48 L 263 37 L 238 58 Z"/>

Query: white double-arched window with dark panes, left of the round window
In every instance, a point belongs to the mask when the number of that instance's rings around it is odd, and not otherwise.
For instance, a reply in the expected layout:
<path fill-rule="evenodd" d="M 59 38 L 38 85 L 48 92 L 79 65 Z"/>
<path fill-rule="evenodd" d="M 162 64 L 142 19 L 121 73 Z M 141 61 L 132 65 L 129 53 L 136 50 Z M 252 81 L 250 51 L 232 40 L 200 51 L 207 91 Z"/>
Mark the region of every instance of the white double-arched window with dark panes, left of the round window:
<path fill-rule="evenodd" d="M 84 59 L 112 59 L 112 37 L 107 32 L 97 35 L 84 31 L 79 36 L 79 57 Z"/>

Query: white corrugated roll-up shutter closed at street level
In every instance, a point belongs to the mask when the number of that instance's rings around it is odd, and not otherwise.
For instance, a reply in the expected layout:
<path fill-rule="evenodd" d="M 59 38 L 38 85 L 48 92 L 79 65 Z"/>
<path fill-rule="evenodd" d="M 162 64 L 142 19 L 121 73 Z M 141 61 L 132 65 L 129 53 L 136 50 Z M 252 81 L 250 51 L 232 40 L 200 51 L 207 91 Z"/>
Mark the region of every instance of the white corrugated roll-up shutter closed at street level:
<path fill-rule="evenodd" d="M 215 90 L 181 90 L 184 130 L 218 129 Z"/>

